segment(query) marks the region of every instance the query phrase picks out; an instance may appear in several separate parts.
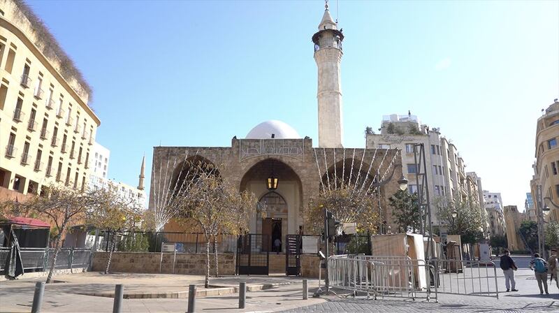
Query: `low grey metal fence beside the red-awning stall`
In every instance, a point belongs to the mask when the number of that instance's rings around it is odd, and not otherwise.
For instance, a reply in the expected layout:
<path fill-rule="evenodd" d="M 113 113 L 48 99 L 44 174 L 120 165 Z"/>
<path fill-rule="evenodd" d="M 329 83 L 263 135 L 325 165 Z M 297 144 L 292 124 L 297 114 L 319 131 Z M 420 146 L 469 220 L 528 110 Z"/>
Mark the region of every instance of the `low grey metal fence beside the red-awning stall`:
<path fill-rule="evenodd" d="M 6 259 L 10 253 L 10 248 L 0 247 L 0 272 L 5 270 Z M 55 268 L 57 270 L 71 268 L 87 268 L 89 265 L 89 249 L 60 249 Z M 54 248 L 20 248 L 23 270 L 26 272 L 41 272 L 48 270 L 55 258 Z"/>

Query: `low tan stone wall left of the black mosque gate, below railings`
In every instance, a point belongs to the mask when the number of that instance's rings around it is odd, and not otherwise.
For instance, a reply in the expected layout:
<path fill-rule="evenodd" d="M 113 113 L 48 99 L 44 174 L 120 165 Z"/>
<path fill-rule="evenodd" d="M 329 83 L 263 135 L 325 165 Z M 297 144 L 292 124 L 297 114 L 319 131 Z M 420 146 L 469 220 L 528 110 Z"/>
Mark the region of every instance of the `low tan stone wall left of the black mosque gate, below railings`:
<path fill-rule="evenodd" d="M 235 254 L 218 254 L 219 275 L 235 275 Z M 94 272 L 105 270 L 108 252 L 95 252 Z M 159 273 L 161 253 L 114 252 L 110 261 L 111 272 Z M 210 275 L 215 273 L 215 261 L 210 255 Z M 175 274 L 205 275 L 205 254 L 176 254 Z M 163 254 L 161 273 L 173 273 L 173 254 Z"/>

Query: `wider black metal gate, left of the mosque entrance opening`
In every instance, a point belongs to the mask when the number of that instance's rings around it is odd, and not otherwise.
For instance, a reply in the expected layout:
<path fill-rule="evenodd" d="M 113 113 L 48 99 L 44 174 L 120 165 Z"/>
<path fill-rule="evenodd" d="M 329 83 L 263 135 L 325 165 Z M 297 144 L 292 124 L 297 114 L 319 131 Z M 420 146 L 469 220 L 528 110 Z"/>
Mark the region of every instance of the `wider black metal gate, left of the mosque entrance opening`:
<path fill-rule="evenodd" d="M 270 235 L 249 233 L 237 241 L 237 275 L 268 275 Z"/>

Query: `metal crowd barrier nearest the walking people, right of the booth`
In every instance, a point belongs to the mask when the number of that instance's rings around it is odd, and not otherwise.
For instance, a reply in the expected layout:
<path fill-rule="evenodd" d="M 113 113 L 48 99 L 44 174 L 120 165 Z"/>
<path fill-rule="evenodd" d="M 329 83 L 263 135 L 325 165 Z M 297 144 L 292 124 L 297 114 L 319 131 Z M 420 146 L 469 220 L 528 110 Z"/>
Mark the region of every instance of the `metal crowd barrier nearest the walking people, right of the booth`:
<path fill-rule="evenodd" d="M 491 261 L 430 260 L 440 293 L 499 298 L 497 268 Z"/>

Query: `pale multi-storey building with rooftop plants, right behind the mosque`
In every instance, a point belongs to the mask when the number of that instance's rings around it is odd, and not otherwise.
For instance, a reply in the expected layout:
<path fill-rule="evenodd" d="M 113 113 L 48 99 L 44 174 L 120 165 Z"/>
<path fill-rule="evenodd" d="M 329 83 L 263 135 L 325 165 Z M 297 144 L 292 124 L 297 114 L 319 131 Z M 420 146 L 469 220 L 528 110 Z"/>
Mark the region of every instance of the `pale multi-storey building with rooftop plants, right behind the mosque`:
<path fill-rule="evenodd" d="M 458 201 L 472 199 L 483 201 L 480 194 L 481 178 L 475 173 L 466 175 L 465 163 L 458 154 L 456 146 L 441 136 L 440 130 L 421 124 L 416 115 L 384 115 L 380 133 L 366 135 L 367 148 L 402 150 L 402 173 L 409 180 L 408 189 L 416 192 L 416 173 L 418 168 L 414 157 L 414 147 L 423 143 L 426 154 L 426 173 L 428 192 L 430 195 L 431 219 L 434 226 L 441 226 L 437 205 L 441 201 Z M 419 150 L 417 153 L 419 157 Z M 423 190 L 421 177 L 419 190 Z M 423 191 L 425 194 L 425 191 Z M 444 225 L 442 225 L 444 228 Z"/>

